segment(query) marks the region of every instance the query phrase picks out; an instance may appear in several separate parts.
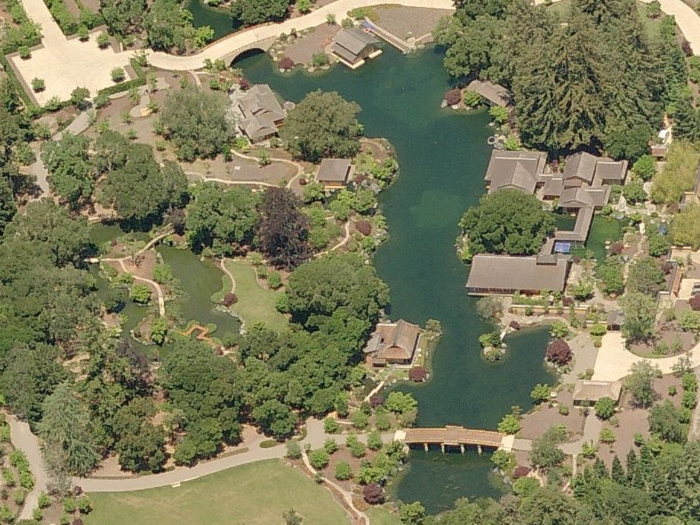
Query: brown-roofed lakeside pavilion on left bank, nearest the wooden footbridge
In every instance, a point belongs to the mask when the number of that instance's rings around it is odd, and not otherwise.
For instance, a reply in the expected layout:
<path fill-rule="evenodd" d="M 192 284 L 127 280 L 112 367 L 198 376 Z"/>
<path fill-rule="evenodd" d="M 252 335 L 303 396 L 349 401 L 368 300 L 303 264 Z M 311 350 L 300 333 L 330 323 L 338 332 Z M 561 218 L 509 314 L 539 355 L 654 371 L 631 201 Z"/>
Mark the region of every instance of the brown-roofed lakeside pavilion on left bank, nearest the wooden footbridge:
<path fill-rule="evenodd" d="M 372 365 L 410 365 L 418 347 L 420 327 L 400 319 L 379 323 L 363 352 Z"/>

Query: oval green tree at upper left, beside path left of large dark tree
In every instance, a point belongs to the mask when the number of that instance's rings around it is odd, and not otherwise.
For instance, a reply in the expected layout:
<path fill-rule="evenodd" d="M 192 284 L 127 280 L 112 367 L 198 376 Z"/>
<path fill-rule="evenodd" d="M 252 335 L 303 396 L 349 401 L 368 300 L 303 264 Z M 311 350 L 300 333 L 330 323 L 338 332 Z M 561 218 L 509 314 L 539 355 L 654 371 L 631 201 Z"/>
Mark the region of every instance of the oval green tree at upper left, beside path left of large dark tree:
<path fill-rule="evenodd" d="M 66 132 L 61 140 L 46 142 L 41 154 L 51 190 L 72 208 L 82 206 L 95 188 L 89 149 L 90 141 L 86 137 Z"/>

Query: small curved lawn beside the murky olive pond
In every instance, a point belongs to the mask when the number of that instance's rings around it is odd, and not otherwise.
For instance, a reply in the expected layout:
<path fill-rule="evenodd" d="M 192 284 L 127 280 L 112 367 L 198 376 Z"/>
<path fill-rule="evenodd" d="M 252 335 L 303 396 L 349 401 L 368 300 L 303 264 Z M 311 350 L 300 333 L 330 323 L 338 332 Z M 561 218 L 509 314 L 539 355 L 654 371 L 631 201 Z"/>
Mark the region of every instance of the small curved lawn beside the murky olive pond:
<path fill-rule="evenodd" d="M 236 278 L 238 302 L 233 311 L 238 314 L 250 329 L 255 323 L 263 322 L 273 330 L 283 330 L 287 318 L 275 308 L 278 292 L 261 288 L 255 278 L 255 271 L 241 261 L 226 261 L 226 267 Z"/>

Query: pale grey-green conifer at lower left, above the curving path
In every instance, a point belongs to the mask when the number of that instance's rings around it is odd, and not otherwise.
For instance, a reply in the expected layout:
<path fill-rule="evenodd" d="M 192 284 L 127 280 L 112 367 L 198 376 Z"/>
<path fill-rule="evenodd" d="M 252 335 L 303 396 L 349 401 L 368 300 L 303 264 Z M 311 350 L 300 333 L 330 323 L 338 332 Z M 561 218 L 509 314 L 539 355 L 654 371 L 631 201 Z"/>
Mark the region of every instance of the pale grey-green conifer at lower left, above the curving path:
<path fill-rule="evenodd" d="M 38 425 L 49 472 L 57 478 L 85 476 L 100 459 L 93 442 L 90 414 L 68 383 L 44 400 Z"/>

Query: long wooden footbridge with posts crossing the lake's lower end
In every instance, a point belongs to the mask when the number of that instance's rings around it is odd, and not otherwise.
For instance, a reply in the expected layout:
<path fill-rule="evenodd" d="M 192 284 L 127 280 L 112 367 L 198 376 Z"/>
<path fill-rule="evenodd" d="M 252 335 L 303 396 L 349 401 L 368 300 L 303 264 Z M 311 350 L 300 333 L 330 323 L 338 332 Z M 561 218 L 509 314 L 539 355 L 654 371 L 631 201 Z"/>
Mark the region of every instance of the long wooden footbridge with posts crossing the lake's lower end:
<path fill-rule="evenodd" d="M 510 449 L 509 437 L 492 430 L 475 430 L 457 425 L 447 425 L 444 428 L 409 428 L 396 432 L 394 439 L 406 445 L 423 445 L 428 450 L 430 445 L 440 445 L 442 451 L 445 447 L 459 447 L 464 453 L 465 447 L 476 446 L 481 453 L 482 447 Z"/>

